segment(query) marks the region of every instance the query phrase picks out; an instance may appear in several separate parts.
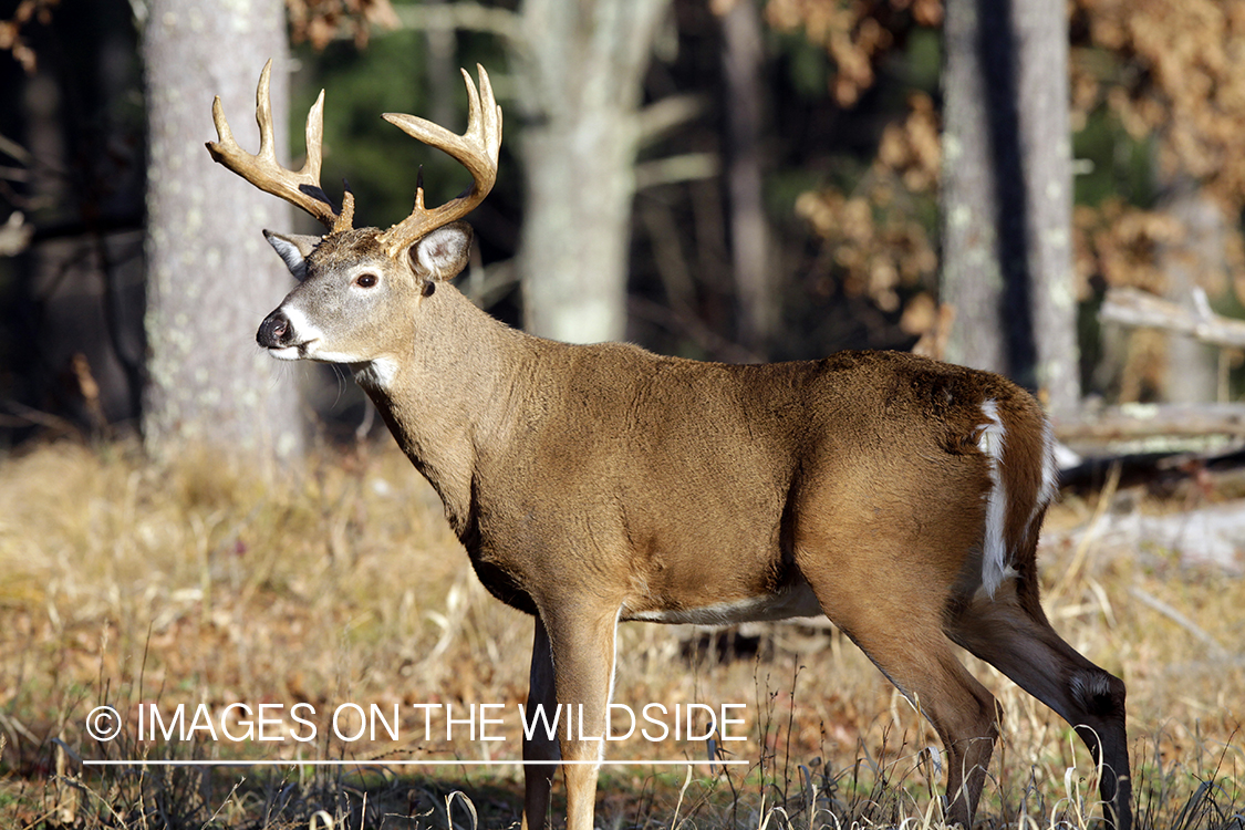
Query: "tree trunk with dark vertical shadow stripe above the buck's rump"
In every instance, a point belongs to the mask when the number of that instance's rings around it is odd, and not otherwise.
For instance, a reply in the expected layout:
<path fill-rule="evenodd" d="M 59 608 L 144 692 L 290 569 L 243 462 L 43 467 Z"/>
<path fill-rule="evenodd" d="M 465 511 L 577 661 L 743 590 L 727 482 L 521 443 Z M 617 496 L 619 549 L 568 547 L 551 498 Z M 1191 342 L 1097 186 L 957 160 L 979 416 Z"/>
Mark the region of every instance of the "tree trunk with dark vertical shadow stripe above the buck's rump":
<path fill-rule="evenodd" d="M 1079 401 L 1067 17 L 1058 0 L 947 0 L 942 301 L 947 358 Z"/>

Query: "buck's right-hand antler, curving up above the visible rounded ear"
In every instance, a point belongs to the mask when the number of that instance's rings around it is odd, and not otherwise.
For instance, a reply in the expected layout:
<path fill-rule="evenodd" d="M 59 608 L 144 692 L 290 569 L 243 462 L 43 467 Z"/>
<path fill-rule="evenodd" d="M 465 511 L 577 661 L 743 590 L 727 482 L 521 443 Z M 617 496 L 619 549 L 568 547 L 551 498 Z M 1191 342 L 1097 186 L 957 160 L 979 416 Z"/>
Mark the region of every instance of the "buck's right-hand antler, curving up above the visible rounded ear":
<path fill-rule="evenodd" d="M 390 256 L 420 239 L 431 230 L 447 225 L 471 213 L 483 202 L 497 180 L 497 153 L 502 146 L 502 108 L 493 100 L 493 87 L 488 82 L 488 72 L 479 63 L 479 92 L 472 83 L 471 75 L 462 70 L 467 82 L 468 117 L 467 132 L 457 136 L 431 121 L 386 112 L 385 121 L 401 128 L 402 132 L 418 138 L 430 147 L 437 147 L 449 153 L 472 174 L 472 185 L 457 199 L 439 208 L 423 207 L 422 182 L 415 190 L 415 208 L 411 215 L 380 235 L 380 243 Z"/>

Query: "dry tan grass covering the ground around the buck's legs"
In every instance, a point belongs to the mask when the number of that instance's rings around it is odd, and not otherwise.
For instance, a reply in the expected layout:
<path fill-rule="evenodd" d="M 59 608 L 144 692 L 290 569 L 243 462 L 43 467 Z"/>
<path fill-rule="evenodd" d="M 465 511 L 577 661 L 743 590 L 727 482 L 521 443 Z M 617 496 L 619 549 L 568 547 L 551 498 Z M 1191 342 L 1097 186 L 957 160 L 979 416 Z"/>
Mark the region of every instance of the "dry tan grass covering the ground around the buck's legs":
<path fill-rule="evenodd" d="M 530 621 L 484 592 L 436 498 L 387 443 L 367 457 L 329 453 L 296 480 L 264 483 L 210 457 L 157 469 L 127 444 L 62 442 L 0 462 L 0 824 L 517 819 L 513 768 L 209 773 L 80 763 L 519 757 L 517 718 L 500 744 L 451 745 L 425 742 L 422 716 L 410 708 L 489 702 L 513 712 L 527 689 Z M 1091 521 L 1093 506 L 1068 498 L 1052 529 Z M 1047 605 L 1077 648 L 1129 683 L 1142 826 L 1241 828 L 1245 819 L 1229 821 L 1245 814 L 1245 581 L 1190 571 L 1165 551 L 1109 561 L 1093 545 L 1086 553 L 1068 577 L 1073 545 L 1045 551 Z M 688 656 L 695 633 L 625 626 L 615 699 L 747 703 L 749 739 L 728 749 L 753 767 L 730 779 L 698 768 L 691 781 L 681 768 L 608 768 L 603 826 L 941 826 L 942 775 L 926 752 L 936 738 L 842 636 L 779 626 L 762 633 L 756 656 L 718 661 Z M 1069 729 L 994 669 L 972 668 L 1007 711 L 980 824 L 1084 826 L 1093 770 Z M 112 744 L 83 734 L 95 706 L 132 719 L 141 702 L 166 712 L 306 702 L 319 713 L 341 702 L 400 703 L 406 716 L 397 743 L 166 744 L 137 742 L 132 720 Z M 614 758 L 705 752 L 688 742 L 610 748 Z M 454 799 L 447 813 L 457 789 L 471 803 Z"/>

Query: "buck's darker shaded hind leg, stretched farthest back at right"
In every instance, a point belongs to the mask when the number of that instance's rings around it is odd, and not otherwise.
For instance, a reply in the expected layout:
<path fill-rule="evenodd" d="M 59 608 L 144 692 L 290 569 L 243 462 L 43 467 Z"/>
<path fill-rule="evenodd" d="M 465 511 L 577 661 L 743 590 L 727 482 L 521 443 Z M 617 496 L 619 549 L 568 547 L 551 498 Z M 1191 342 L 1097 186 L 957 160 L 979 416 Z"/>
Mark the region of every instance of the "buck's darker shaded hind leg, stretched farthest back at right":
<path fill-rule="evenodd" d="M 1072 724 L 1094 763 L 1102 764 L 1099 793 L 1108 824 L 1128 830 L 1124 682 L 1056 633 L 1037 601 L 1036 581 L 1005 582 L 994 600 L 979 595 L 949 617 L 947 635 Z"/>

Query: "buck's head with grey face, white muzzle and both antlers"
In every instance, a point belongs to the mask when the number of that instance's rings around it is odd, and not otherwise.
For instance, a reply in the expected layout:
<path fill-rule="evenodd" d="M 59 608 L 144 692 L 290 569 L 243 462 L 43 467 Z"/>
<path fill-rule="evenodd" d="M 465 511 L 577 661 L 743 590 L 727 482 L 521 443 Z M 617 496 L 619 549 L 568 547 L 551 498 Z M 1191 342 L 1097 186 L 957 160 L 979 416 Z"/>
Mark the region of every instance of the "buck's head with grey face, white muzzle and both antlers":
<path fill-rule="evenodd" d="M 383 231 L 355 229 L 354 195 L 346 190 L 337 210 L 320 187 L 324 91 L 308 114 L 308 157 L 298 172 L 276 162 L 269 102 L 271 61 L 264 66 L 255 95 L 258 154 L 238 146 L 220 98 L 213 102 L 218 141 L 207 146 L 212 158 L 261 190 L 303 208 L 327 229 L 322 236 L 264 231 L 300 281 L 264 319 L 255 336 L 273 357 L 374 366 L 383 375 L 391 356 L 410 338 L 411 320 L 422 299 L 467 264 L 472 231 L 458 219 L 492 189 L 502 144 L 502 108 L 493 100 L 488 72 L 477 68 L 478 91 L 463 71 L 469 114 L 462 136 L 416 116 L 385 113 L 386 121 L 408 136 L 449 153 L 471 172 L 473 182 L 458 198 L 430 209 L 423 204 L 421 175 L 411 215 Z"/>

